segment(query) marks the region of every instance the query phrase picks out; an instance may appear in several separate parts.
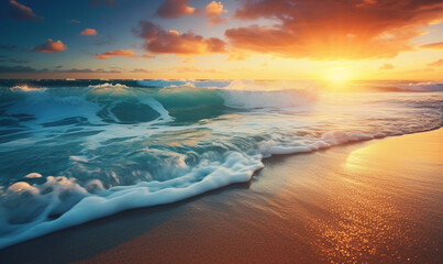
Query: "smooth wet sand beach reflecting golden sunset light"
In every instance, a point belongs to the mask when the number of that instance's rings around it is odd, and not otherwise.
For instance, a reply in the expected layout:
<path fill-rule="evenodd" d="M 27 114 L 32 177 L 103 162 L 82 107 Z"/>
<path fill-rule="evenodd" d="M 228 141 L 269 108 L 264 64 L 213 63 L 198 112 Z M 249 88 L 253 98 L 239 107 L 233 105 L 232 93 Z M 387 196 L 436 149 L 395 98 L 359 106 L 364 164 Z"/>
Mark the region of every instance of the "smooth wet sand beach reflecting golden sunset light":
<path fill-rule="evenodd" d="M 248 184 L 99 219 L 0 263 L 441 263 L 443 130 L 278 156 Z"/>

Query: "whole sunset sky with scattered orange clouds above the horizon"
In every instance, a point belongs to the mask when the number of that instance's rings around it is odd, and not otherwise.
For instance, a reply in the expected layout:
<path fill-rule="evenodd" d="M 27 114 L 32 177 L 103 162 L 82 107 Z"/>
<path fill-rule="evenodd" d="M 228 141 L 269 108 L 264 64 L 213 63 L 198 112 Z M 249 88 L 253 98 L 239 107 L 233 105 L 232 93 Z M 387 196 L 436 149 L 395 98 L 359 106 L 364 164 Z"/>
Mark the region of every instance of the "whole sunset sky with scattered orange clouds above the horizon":
<path fill-rule="evenodd" d="M 0 78 L 443 79 L 442 0 L 2 0 Z"/>

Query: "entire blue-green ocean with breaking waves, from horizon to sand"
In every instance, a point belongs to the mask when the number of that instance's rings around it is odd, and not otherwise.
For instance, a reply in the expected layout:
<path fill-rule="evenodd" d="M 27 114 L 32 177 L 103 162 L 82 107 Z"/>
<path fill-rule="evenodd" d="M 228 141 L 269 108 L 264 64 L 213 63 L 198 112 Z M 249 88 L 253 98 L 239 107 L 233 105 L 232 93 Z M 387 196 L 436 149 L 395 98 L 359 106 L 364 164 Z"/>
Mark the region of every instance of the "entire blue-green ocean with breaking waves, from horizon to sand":
<path fill-rule="evenodd" d="M 443 82 L 346 86 L 0 80 L 0 249 L 248 182 L 272 155 L 443 124 Z"/>

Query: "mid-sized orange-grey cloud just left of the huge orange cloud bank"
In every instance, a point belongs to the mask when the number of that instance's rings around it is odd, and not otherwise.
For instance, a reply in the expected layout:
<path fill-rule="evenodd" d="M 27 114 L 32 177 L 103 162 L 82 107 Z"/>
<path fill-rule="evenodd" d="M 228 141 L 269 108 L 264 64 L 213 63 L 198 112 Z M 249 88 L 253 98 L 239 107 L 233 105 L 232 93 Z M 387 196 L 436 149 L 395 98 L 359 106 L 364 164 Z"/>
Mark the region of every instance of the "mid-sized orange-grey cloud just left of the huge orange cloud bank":
<path fill-rule="evenodd" d="M 133 33 L 145 41 L 145 50 L 153 54 L 206 55 L 225 52 L 225 42 L 218 37 L 204 38 L 192 32 L 180 34 L 165 31 L 148 21 L 140 21 Z"/>

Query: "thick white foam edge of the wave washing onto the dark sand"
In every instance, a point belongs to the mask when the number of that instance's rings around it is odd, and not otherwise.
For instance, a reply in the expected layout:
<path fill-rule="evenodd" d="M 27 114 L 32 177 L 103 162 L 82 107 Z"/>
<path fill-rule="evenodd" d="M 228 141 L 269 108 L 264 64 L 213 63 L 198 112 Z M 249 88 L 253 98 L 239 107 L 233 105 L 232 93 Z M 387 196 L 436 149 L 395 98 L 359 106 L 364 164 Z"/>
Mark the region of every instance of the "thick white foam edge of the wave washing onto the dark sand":
<path fill-rule="evenodd" d="M 86 187 L 65 177 L 47 177 L 42 186 L 16 183 L 0 206 L 0 249 L 56 230 L 119 211 L 182 200 L 234 183 L 248 182 L 263 167 L 261 156 L 230 153 L 223 163 L 212 162 L 166 182 L 144 182 L 103 190 L 101 183 Z M 89 193 L 88 189 L 95 190 Z M 63 213 L 51 220 L 53 215 Z M 18 224 L 20 223 L 20 224 Z"/>

